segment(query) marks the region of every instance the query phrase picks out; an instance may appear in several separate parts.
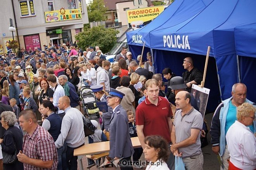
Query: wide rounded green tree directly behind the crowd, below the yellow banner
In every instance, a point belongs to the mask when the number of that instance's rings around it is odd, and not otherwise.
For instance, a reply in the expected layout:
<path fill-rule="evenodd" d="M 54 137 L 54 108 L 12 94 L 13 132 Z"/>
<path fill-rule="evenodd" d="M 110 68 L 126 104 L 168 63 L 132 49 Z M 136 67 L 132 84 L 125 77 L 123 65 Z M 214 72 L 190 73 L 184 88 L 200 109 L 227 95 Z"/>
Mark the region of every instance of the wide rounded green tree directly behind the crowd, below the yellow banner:
<path fill-rule="evenodd" d="M 116 43 L 116 34 L 118 33 L 119 31 L 112 28 L 98 26 L 77 34 L 75 38 L 77 45 L 84 50 L 89 46 L 98 45 L 102 52 L 107 53 Z"/>

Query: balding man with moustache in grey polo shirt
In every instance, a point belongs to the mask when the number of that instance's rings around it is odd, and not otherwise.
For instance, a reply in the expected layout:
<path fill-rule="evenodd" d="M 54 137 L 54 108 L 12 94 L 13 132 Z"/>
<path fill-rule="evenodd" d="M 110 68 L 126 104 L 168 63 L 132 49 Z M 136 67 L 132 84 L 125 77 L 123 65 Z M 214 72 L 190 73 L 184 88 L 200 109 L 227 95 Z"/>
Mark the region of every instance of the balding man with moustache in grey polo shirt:
<path fill-rule="evenodd" d="M 202 170 L 204 157 L 201 151 L 200 131 L 203 117 L 191 106 L 191 95 L 180 91 L 175 96 L 175 104 L 179 109 L 174 117 L 171 131 L 171 152 L 181 156 L 187 170 Z"/>

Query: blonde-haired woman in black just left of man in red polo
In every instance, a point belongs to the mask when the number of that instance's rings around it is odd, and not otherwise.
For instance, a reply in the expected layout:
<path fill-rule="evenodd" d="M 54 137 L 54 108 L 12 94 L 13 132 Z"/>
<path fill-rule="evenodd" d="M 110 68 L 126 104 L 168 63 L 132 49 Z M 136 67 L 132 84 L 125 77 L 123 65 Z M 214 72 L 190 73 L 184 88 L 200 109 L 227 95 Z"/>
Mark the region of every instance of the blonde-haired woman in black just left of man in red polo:
<path fill-rule="evenodd" d="M 140 75 L 133 72 L 133 73 L 131 73 L 130 78 L 131 78 L 131 81 L 130 81 L 130 85 L 128 86 L 128 88 L 131 89 L 131 91 L 133 92 L 133 94 L 135 96 L 135 105 L 133 105 L 133 106 L 136 109 L 138 106 L 138 100 L 141 98 L 141 96 L 140 96 L 140 89 L 135 89 L 134 85 L 138 83 L 138 81 L 140 79 Z"/>

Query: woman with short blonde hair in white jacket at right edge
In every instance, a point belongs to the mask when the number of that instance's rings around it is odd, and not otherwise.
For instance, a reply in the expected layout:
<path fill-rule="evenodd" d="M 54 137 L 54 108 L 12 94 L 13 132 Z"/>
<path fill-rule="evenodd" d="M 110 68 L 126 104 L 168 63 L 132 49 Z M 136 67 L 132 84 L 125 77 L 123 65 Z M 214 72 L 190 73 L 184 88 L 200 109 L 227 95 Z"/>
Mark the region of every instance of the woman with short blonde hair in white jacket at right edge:
<path fill-rule="evenodd" d="M 255 107 L 249 103 L 243 103 L 237 107 L 237 120 L 227 131 L 226 140 L 230 153 L 230 170 L 254 170 L 256 169 L 256 138 L 255 132 Z M 249 125 L 254 122 L 254 132 Z"/>

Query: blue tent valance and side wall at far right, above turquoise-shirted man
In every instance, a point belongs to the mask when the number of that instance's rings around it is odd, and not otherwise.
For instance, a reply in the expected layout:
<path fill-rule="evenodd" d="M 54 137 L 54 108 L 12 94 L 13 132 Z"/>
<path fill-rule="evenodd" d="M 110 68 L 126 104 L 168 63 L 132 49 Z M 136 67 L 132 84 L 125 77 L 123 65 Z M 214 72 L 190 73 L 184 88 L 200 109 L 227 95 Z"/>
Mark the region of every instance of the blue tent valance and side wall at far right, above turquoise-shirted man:
<path fill-rule="evenodd" d="M 256 23 L 235 27 L 234 34 L 240 79 L 247 86 L 247 98 L 256 102 Z"/>

